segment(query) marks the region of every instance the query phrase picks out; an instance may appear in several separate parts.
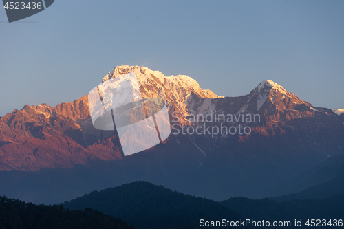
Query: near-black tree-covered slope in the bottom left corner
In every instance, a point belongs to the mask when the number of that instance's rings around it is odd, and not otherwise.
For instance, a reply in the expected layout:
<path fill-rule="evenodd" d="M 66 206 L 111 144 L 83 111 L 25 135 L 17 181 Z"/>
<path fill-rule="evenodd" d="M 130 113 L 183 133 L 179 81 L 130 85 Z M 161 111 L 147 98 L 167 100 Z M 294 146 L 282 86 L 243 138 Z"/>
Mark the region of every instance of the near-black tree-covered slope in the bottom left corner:
<path fill-rule="evenodd" d="M 0 197 L 0 228 L 94 228 L 133 229 L 122 219 L 92 210 L 68 210 L 63 206 L 25 203 Z"/>

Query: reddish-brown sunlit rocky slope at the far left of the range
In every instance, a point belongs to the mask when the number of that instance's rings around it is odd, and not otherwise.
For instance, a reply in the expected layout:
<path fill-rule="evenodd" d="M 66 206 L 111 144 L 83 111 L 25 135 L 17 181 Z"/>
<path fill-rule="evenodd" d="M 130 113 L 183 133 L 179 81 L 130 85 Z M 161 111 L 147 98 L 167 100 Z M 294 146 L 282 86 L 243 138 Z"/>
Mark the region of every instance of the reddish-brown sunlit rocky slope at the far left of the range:
<path fill-rule="evenodd" d="M 0 130 L 1 170 L 65 168 L 120 157 L 114 137 L 92 130 L 86 97 L 57 107 L 25 105 L 1 118 Z"/>

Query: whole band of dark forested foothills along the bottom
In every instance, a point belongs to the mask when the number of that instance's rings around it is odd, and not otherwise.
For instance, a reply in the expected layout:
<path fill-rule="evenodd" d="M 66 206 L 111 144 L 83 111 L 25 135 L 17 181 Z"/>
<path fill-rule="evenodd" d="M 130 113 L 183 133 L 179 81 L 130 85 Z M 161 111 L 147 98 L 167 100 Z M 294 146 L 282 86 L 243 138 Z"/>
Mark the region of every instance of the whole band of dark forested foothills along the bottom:
<path fill-rule="evenodd" d="M 173 192 L 149 182 L 133 182 L 94 191 L 65 201 L 63 206 L 36 205 L 0 197 L 0 228 L 133 229 L 128 226 L 129 222 L 137 229 L 192 229 L 224 221 L 250 221 L 246 228 L 259 228 L 252 223 L 262 221 L 270 225 L 288 222 L 288 228 L 300 228 L 294 226 L 295 221 L 300 221 L 301 228 L 305 228 L 308 219 L 318 219 L 321 225 L 325 221 L 326 225 L 321 228 L 332 228 L 343 226 L 343 206 L 344 195 L 283 202 L 235 197 L 219 203 Z"/>

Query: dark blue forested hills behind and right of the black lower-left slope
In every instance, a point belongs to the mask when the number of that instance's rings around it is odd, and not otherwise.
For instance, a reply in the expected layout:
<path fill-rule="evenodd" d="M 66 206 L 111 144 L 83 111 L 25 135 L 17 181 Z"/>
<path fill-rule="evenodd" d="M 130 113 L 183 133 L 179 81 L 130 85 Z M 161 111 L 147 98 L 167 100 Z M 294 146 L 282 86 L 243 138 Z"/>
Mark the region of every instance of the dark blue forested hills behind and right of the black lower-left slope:
<path fill-rule="evenodd" d="M 321 223 L 326 221 L 323 228 L 332 228 L 335 224 L 343 225 L 343 204 L 344 195 L 282 202 L 234 197 L 214 202 L 172 192 L 149 182 L 133 182 L 65 201 L 63 206 L 76 210 L 93 208 L 109 215 L 118 215 L 136 228 L 201 228 L 200 219 L 220 222 L 222 219 L 249 219 L 268 221 L 270 226 L 274 222 L 290 222 L 290 228 L 300 228 L 294 225 L 295 220 L 301 220 L 301 228 L 305 228 L 308 219 L 321 219 Z M 250 223 L 248 227 L 260 228 Z"/>

